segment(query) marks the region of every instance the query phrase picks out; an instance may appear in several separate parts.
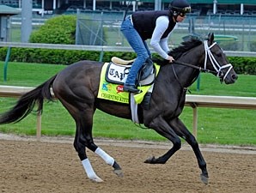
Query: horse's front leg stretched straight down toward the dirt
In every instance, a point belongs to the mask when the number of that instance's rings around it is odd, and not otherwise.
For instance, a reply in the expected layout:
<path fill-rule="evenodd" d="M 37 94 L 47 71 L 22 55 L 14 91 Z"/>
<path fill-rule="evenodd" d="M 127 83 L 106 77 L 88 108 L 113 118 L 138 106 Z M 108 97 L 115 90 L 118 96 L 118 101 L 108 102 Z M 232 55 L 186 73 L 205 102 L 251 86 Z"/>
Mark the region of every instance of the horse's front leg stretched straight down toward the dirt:
<path fill-rule="evenodd" d="M 187 130 L 186 126 L 181 122 L 180 118 L 174 118 L 169 122 L 170 126 L 174 128 L 175 132 L 178 136 L 182 137 L 186 140 L 188 144 L 191 145 L 193 152 L 195 153 L 197 160 L 198 160 L 198 166 L 201 169 L 201 180 L 204 184 L 208 184 L 208 172 L 206 168 L 206 162 L 204 160 L 204 157 L 199 149 L 198 142 L 196 138 L 192 135 L 192 133 Z"/>

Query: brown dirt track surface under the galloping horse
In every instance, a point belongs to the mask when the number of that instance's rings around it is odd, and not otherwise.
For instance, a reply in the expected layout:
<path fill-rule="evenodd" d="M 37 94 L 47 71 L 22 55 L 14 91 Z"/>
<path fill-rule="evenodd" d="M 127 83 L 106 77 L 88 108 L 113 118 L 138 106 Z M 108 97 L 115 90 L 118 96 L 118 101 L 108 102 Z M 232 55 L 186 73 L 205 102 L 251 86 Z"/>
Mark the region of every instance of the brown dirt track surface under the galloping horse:
<path fill-rule="evenodd" d="M 103 183 L 91 182 L 72 145 L 71 138 L 0 135 L 0 192 L 256 192 L 256 148 L 202 146 L 210 175 L 201 182 L 200 170 L 186 144 L 165 165 L 149 165 L 149 156 L 164 154 L 171 143 L 95 139 L 122 167 L 117 177 L 111 166 L 88 151 L 94 171 Z"/>

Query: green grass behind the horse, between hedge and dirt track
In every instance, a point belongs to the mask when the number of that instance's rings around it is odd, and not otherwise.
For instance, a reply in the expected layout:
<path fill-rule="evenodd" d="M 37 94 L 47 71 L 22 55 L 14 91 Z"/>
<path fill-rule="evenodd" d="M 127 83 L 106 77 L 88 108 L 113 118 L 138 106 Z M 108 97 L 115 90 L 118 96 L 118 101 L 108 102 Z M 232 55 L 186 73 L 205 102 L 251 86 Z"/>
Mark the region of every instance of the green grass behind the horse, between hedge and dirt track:
<path fill-rule="evenodd" d="M 9 63 L 8 79 L 3 81 L 3 71 L 0 70 L 1 85 L 38 86 L 46 81 L 64 65 Z M 3 62 L 0 62 L 3 69 Z M 229 95 L 256 97 L 255 75 L 240 75 L 232 85 L 220 84 L 219 80 L 210 74 L 200 76 L 200 87 L 197 90 L 195 82 L 190 90 L 192 94 Z M 15 104 L 15 99 L 0 98 L 0 112 L 5 112 Z M 198 142 L 233 145 L 256 145 L 255 110 L 198 108 Z M 192 130 L 192 108 L 185 107 L 180 116 L 189 130 Z M 45 103 L 42 116 L 42 135 L 74 136 L 75 124 L 69 113 L 57 101 Z M 0 132 L 18 135 L 35 135 L 36 116 L 30 114 L 17 124 L 0 125 Z M 164 141 L 154 130 L 141 129 L 131 122 L 115 118 L 104 112 L 96 111 L 94 115 L 94 136 L 119 139 L 140 139 Z"/>

